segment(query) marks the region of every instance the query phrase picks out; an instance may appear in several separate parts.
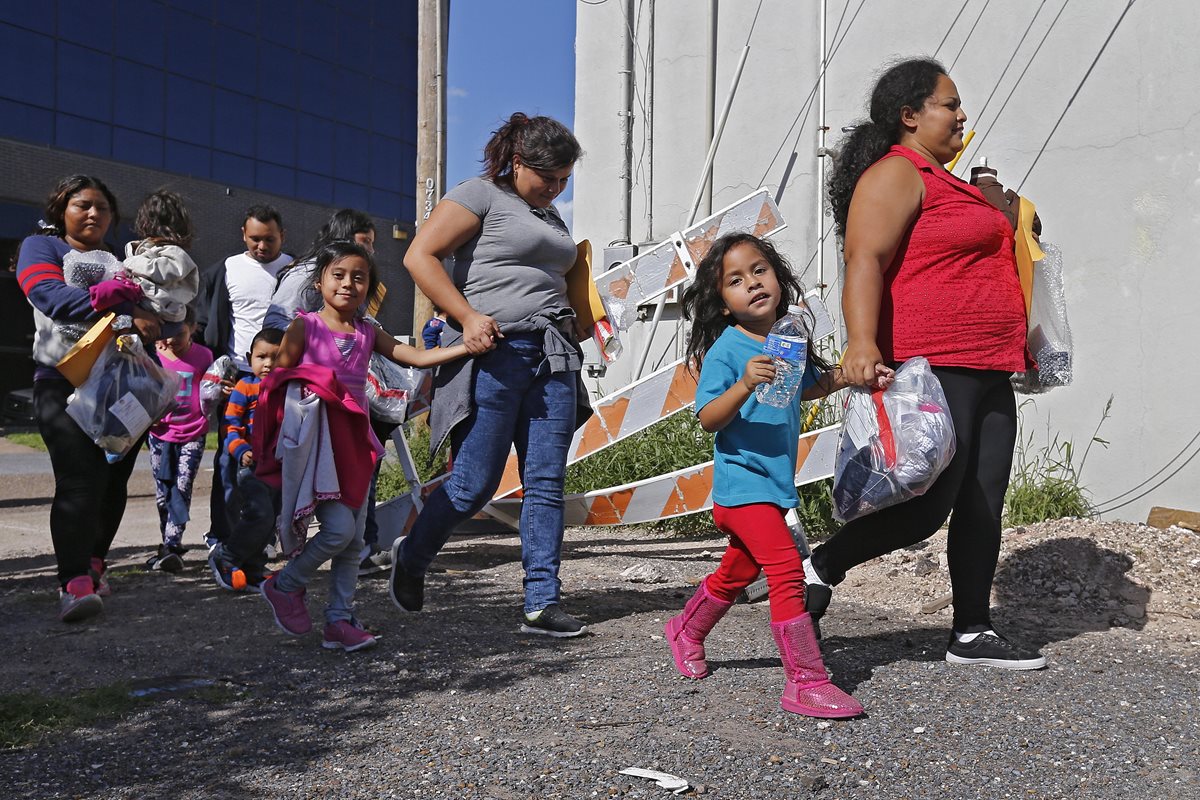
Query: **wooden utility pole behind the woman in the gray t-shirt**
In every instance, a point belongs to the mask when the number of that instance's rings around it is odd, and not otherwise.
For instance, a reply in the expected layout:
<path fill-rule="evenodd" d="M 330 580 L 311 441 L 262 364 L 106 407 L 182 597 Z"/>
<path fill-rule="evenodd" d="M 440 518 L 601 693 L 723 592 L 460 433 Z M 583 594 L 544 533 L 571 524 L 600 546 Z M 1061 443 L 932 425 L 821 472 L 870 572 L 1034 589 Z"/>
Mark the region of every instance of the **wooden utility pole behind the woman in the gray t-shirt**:
<path fill-rule="evenodd" d="M 445 191 L 445 73 L 450 0 L 418 0 L 416 7 L 416 229 Z M 433 303 L 413 287 L 413 342 L 425 347 L 421 329 Z"/>

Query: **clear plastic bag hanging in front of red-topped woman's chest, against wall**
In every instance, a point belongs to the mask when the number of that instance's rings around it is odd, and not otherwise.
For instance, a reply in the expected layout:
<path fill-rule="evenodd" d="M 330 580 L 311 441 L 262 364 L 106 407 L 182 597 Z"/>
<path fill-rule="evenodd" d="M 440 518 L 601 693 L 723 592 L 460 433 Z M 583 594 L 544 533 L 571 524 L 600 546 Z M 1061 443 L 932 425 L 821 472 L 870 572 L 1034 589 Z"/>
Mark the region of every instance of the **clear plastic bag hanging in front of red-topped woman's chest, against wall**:
<path fill-rule="evenodd" d="M 1013 386 L 1024 395 L 1038 395 L 1070 385 L 1074 343 L 1067 323 L 1067 295 L 1062 288 L 1062 251 L 1042 243 L 1045 257 L 1033 266 L 1030 300 L 1030 354 L 1036 369 L 1013 375 Z"/>

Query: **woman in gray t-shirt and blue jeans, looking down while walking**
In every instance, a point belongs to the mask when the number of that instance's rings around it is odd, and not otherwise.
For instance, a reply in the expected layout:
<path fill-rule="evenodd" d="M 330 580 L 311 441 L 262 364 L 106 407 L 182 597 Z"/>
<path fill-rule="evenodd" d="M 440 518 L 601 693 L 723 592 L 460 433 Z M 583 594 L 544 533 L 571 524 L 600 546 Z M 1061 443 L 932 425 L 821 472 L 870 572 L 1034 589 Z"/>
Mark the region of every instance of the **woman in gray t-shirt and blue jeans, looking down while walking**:
<path fill-rule="evenodd" d="M 407 610 L 421 608 L 430 563 L 492 499 L 515 445 L 524 486 L 521 630 L 584 631 L 559 607 L 566 451 L 586 397 L 566 301 L 575 242 L 552 205 L 581 155 L 560 122 L 514 114 L 492 133 L 482 176 L 438 203 L 404 255 L 413 281 L 449 315 L 443 345 L 461 339 L 473 356 L 443 367 L 433 395 L 431 425 L 436 438 L 449 431 L 452 473 L 392 547 L 391 596 Z M 450 257 L 452 275 L 443 267 Z"/>

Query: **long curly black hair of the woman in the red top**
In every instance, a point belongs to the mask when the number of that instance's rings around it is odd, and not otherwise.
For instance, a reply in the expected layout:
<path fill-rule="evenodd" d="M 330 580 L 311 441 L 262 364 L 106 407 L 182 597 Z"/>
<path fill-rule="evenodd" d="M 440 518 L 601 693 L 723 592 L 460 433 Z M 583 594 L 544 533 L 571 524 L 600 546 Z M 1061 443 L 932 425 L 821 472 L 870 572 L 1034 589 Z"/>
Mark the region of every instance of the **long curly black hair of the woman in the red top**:
<path fill-rule="evenodd" d="M 869 119 L 838 144 L 838 157 L 829 175 L 829 206 L 840 235 L 846 234 L 846 215 L 854 186 L 866 168 L 900 142 L 900 113 L 905 108 L 920 110 L 937 90 L 937 79 L 946 67 L 934 59 L 908 59 L 888 67 L 871 90 Z"/>

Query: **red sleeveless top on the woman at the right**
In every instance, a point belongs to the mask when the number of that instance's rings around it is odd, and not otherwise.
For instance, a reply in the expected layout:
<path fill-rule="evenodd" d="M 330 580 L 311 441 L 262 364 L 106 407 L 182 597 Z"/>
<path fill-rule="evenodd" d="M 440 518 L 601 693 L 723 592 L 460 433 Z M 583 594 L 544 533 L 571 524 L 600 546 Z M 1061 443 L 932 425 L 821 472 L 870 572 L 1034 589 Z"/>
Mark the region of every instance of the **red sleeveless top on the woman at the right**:
<path fill-rule="evenodd" d="M 1025 369 L 1025 299 L 1004 215 L 916 151 L 893 145 L 883 158 L 893 157 L 917 167 L 925 198 L 883 276 L 883 360 L 922 355 L 937 367 Z"/>

